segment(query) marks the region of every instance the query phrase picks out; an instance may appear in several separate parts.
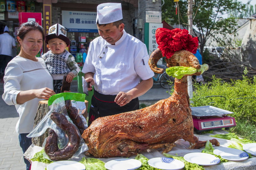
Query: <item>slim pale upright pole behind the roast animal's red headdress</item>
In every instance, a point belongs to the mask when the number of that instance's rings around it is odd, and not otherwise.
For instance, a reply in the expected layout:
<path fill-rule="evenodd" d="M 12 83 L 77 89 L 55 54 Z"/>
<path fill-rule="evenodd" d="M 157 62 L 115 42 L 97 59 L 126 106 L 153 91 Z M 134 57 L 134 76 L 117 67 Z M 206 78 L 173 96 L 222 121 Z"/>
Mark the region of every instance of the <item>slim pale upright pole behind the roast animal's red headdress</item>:
<path fill-rule="evenodd" d="M 193 0 L 188 0 L 188 33 L 192 36 L 193 31 Z M 189 99 L 193 98 L 193 86 L 192 86 L 192 76 L 188 76 L 188 96 Z"/>

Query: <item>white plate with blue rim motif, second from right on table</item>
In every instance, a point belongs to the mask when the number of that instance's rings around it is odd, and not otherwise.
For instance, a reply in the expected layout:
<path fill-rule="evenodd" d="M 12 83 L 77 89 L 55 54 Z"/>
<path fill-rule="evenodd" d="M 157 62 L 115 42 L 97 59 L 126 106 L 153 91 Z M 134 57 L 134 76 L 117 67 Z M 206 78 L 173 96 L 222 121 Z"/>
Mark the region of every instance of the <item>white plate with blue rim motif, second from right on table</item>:
<path fill-rule="evenodd" d="M 246 152 L 234 148 L 219 148 L 215 149 L 213 153 L 215 155 L 220 155 L 223 159 L 234 161 L 245 160 L 249 158 L 249 155 Z"/>

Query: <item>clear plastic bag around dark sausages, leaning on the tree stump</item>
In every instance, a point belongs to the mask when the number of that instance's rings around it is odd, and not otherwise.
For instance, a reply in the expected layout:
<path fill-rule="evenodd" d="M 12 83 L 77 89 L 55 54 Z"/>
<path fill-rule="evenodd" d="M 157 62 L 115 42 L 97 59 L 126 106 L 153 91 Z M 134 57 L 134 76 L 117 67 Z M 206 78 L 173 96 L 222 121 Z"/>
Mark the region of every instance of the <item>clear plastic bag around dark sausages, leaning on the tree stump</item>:
<path fill-rule="evenodd" d="M 71 98 L 74 98 L 76 93 L 69 94 L 69 95 L 70 95 Z M 66 100 L 68 100 L 68 99 L 69 98 L 66 98 Z M 86 106 L 85 106 L 84 101 L 82 102 L 82 101 L 72 100 L 72 106 L 75 107 L 78 110 L 78 115 L 81 116 L 81 118 L 82 118 L 83 124 L 85 126 L 84 128 L 87 129 L 88 126 L 87 126 L 86 119 L 82 115 L 86 111 Z M 55 122 L 52 121 L 52 119 L 50 118 L 52 112 L 57 112 L 57 113 L 60 113 L 61 115 L 64 115 L 70 123 L 75 125 L 68 116 L 68 112 L 67 112 L 67 109 L 65 107 L 65 100 L 64 100 L 64 97 L 62 96 L 62 97 L 60 97 L 60 98 L 58 98 L 58 99 L 56 99 L 52 102 L 52 105 L 49 106 L 49 112 L 36 125 L 36 127 L 27 135 L 27 137 L 39 137 L 39 136 L 43 135 L 44 132 L 48 128 L 53 129 L 54 132 L 58 136 L 58 147 L 59 147 L 59 149 L 62 149 L 65 146 L 67 146 L 67 144 L 68 144 L 68 136 L 62 129 L 60 129 L 56 125 Z M 75 125 L 75 127 L 76 127 L 76 125 Z M 76 132 L 77 132 L 78 136 L 80 137 L 79 148 L 78 148 L 78 151 L 68 160 L 72 160 L 73 158 L 77 157 L 80 153 L 85 152 L 85 151 L 88 150 L 87 144 L 85 144 L 85 142 L 84 142 L 83 138 L 81 137 L 80 132 L 79 132 L 77 127 L 76 127 Z M 45 140 L 44 140 L 43 148 L 45 147 L 46 140 L 47 140 L 47 138 L 45 138 Z M 44 158 L 51 160 L 45 153 L 43 155 L 44 155 Z"/>

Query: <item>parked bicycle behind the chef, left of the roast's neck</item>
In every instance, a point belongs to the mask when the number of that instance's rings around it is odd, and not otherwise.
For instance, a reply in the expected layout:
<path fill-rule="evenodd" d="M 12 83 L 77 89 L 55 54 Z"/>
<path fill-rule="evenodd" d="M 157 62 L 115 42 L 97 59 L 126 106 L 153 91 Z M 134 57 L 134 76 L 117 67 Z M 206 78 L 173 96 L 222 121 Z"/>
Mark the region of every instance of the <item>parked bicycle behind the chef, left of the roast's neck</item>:
<path fill-rule="evenodd" d="M 166 69 L 167 67 L 165 65 L 157 65 L 158 68 L 162 68 L 162 69 Z M 158 81 L 159 78 L 159 81 Z M 165 71 L 163 74 L 158 74 L 157 78 L 153 77 L 153 81 L 154 83 L 160 83 L 160 85 L 164 88 L 164 89 L 171 89 L 174 86 L 174 80 L 175 78 L 173 78 L 172 76 L 169 76 Z"/>

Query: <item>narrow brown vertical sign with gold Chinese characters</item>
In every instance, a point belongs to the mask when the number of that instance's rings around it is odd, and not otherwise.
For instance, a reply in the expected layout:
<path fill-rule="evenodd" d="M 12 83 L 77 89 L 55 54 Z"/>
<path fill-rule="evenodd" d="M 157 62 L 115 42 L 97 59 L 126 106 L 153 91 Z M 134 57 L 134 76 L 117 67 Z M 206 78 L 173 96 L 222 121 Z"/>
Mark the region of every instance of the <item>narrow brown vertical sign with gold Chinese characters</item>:
<path fill-rule="evenodd" d="M 44 4 L 44 33 L 48 35 L 49 27 L 52 26 L 52 5 Z M 44 53 L 48 51 L 47 44 L 44 42 Z"/>

